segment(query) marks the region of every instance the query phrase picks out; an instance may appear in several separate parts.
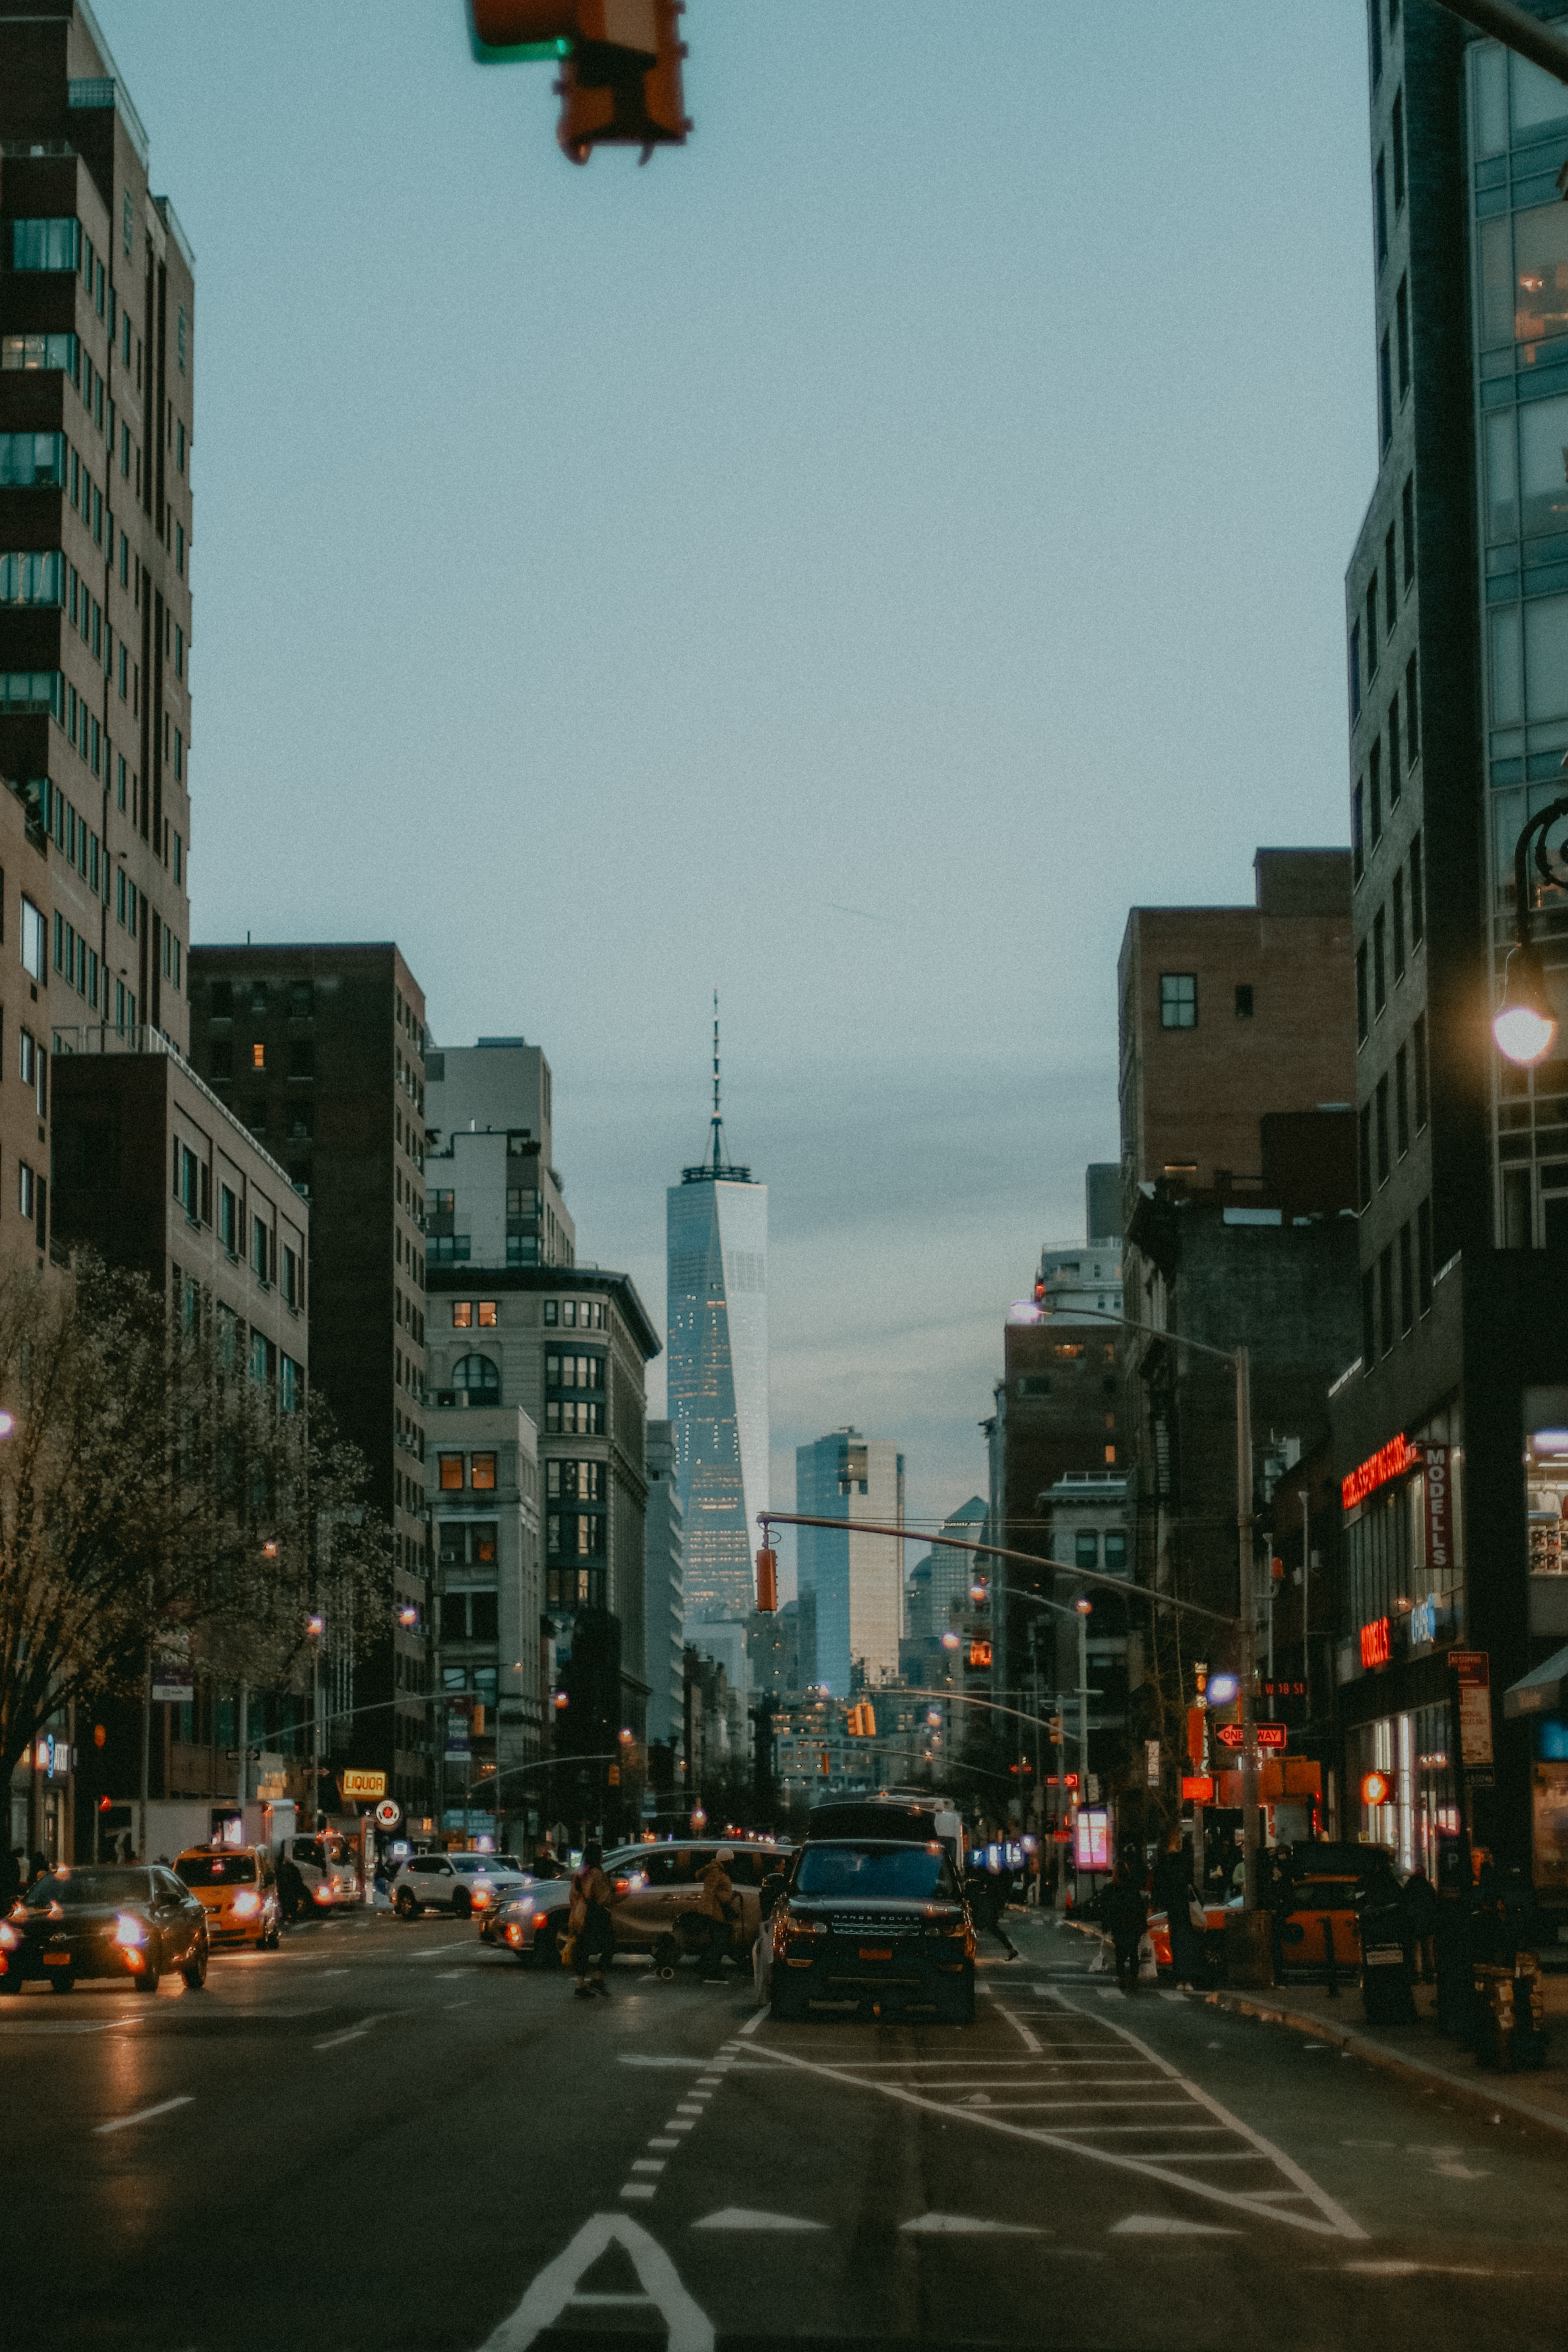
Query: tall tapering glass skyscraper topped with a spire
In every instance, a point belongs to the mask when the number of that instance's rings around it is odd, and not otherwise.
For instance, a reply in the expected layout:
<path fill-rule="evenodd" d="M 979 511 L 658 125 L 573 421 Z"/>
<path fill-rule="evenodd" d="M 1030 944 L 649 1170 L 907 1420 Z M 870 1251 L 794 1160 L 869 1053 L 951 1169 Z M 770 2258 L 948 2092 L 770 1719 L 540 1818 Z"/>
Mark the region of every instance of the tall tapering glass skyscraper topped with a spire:
<path fill-rule="evenodd" d="M 724 1157 L 717 997 L 710 1152 L 665 1197 L 670 1418 L 693 1625 L 750 1613 L 769 1498 L 769 1188 Z"/>

